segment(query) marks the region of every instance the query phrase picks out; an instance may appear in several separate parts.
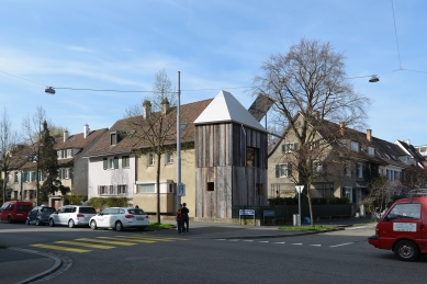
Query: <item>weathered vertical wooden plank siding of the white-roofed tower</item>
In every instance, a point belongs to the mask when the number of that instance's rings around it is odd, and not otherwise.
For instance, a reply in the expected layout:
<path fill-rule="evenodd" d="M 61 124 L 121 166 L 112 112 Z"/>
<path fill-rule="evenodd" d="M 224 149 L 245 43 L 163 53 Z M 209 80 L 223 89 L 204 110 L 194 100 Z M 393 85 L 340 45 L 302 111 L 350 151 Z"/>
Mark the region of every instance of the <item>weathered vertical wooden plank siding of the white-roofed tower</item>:
<path fill-rule="evenodd" d="M 232 218 L 233 206 L 267 204 L 266 133 L 235 123 L 196 125 L 194 146 L 196 217 Z M 258 168 L 246 167 L 247 147 L 258 149 Z"/>

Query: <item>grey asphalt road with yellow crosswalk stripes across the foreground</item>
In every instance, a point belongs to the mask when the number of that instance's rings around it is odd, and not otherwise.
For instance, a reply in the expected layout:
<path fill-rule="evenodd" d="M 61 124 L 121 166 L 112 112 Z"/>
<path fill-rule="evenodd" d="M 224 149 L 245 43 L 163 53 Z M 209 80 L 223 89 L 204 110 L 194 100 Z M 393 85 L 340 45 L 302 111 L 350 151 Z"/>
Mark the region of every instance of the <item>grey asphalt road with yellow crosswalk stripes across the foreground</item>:
<path fill-rule="evenodd" d="M 43 283 L 425 283 L 427 260 L 402 262 L 374 249 L 367 241 L 372 227 L 254 239 L 198 229 L 178 235 L 0 224 L 0 243 L 72 261 Z"/>

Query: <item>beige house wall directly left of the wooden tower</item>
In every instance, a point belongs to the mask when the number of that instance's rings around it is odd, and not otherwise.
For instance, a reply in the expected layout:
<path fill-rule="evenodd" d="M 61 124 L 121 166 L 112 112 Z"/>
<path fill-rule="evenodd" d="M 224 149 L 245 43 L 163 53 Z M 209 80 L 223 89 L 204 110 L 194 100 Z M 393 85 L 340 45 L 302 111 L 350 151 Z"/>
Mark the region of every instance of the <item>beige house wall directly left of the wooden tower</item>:
<path fill-rule="evenodd" d="M 148 213 L 157 212 L 157 192 L 141 193 L 138 192 L 138 184 L 156 183 L 158 161 L 157 157 L 155 159 L 154 166 L 147 166 L 146 154 L 137 159 L 136 192 L 133 203 Z M 187 203 L 187 207 L 190 209 L 190 217 L 194 217 L 195 215 L 194 159 L 194 149 L 181 151 L 181 182 L 186 184 L 186 196 L 181 197 L 181 203 Z M 173 152 L 173 163 L 165 164 L 165 155 L 161 156 L 160 163 L 160 214 L 175 215 L 177 198 L 177 154 Z"/>

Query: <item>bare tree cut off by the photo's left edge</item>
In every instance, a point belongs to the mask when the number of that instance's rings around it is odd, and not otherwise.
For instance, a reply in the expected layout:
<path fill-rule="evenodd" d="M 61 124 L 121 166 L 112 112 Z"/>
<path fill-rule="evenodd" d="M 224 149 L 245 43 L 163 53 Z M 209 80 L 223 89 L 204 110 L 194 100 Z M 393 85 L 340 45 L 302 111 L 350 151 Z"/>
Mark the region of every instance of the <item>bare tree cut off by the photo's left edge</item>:
<path fill-rule="evenodd" d="M 12 162 L 12 151 L 16 146 L 18 134 L 12 129 L 12 124 L 9 120 L 8 111 L 4 107 L 0 120 L 0 167 L 3 172 L 3 202 L 7 200 L 7 183 L 9 177 L 9 170 Z"/>

